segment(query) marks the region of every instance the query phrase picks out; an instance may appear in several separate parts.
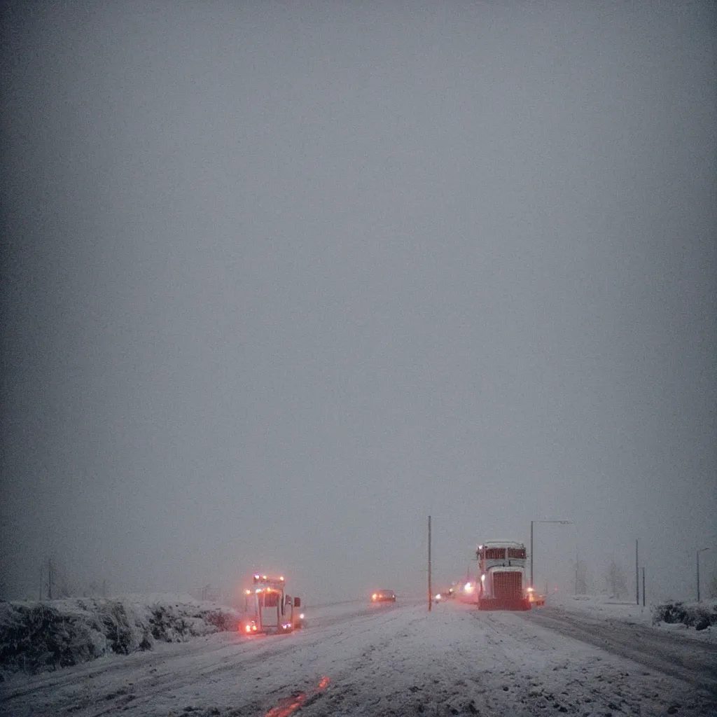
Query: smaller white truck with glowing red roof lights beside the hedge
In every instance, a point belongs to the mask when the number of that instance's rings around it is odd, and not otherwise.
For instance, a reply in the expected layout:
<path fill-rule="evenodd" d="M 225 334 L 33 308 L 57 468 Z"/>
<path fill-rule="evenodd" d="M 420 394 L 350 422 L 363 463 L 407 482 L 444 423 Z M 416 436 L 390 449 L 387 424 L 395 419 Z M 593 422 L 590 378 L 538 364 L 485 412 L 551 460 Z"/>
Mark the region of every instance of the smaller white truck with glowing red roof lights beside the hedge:
<path fill-rule="evenodd" d="M 252 587 L 244 590 L 239 631 L 244 635 L 280 635 L 300 630 L 304 626 L 300 607 L 300 598 L 286 594 L 284 576 L 255 574 Z"/>

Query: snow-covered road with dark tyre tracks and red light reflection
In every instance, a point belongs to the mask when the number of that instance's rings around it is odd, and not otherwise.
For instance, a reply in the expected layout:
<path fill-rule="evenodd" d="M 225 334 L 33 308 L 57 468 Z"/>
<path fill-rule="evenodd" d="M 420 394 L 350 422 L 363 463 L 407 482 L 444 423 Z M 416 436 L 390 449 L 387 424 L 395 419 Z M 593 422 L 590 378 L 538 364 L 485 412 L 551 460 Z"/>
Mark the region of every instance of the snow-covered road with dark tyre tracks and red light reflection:
<path fill-rule="evenodd" d="M 717 715 L 717 647 L 558 609 L 315 609 L 303 632 L 219 633 L 0 684 L 0 713 Z"/>

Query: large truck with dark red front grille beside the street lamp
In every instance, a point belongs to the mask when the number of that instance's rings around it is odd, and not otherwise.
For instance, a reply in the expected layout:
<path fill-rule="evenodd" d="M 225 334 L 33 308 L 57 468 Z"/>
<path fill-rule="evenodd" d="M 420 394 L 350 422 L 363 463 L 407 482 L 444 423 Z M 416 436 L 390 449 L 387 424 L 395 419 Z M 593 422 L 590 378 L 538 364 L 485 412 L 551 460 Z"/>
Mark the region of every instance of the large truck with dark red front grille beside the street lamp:
<path fill-rule="evenodd" d="M 478 609 L 529 610 L 526 585 L 526 546 L 510 541 L 479 545 Z"/>

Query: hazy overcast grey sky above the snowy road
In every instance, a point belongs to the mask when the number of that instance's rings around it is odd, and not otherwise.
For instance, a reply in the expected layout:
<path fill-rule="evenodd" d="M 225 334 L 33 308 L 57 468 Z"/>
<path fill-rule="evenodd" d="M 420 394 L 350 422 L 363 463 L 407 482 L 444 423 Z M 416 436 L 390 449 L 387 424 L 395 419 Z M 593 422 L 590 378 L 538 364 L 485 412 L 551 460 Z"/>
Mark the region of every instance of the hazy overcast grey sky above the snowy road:
<path fill-rule="evenodd" d="M 713 4 L 2 24 L 6 597 L 716 574 Z"/>

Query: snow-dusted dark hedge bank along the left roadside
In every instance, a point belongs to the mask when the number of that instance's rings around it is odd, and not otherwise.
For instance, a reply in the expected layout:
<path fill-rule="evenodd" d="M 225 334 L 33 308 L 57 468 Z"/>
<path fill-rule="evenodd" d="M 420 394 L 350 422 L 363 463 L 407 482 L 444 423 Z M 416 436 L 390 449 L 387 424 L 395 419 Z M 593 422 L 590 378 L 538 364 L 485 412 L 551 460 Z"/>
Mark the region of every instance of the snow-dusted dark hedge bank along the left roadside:
<path fill-rule="evenodd" d="M 236 610 L 192 599 L 67 599 L 0 603 L 0 677 L 84 663 L 111 653 L 151 650 L 235 630 Z"/>

